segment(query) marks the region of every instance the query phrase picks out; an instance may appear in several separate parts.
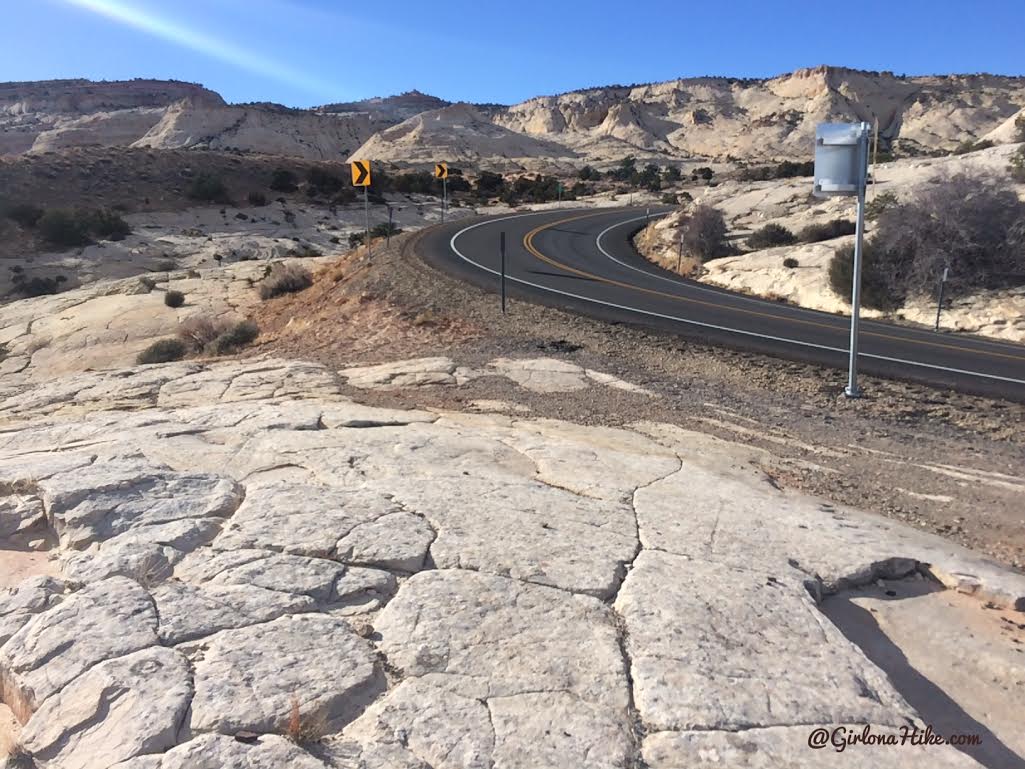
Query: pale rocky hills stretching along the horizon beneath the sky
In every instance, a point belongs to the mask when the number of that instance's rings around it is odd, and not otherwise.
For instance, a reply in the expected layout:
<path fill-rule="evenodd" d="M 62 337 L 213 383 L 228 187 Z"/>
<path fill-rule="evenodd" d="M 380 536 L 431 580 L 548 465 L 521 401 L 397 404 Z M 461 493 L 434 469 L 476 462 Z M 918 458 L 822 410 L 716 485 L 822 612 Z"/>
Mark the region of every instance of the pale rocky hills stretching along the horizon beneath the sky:
<path fill-rule="evenodd" d="M 1009 140 L 1025 78 L 905 77 L 834 67 L 767 80 L 691 78 L 540 96 L 514 107 L 450 105 L 419 91 L 287 110 L 229 106 L 187 83 L 0 85 L 0 154 L 84 145 L 239 149 L 329 159 L 508 165 L 652 159 L 806 159 L 815 125 L 878 121 L 884 150 L 948 153 Z M 529 165 L 524 163 L 524 165 Z"/>

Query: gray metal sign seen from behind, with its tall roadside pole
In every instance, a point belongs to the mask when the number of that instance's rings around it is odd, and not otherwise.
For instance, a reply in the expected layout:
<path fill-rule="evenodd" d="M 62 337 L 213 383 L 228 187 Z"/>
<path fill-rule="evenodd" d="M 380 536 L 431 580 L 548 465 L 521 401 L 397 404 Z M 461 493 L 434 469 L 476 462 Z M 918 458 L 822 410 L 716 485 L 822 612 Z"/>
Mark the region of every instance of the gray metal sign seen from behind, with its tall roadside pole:
<path fill-rule="evenodd" d="M 868 123 L 821 123 L 815 129 L 815 187 L 818 198 L 855 195 L 858 225 L 854 241 L 854 278 L 851 288 L 851 361 L 848 398 L 858 398 L 858 326 L 861 316 L 861 260 L 865 241 L 865 186 L 868 183 Z"/>

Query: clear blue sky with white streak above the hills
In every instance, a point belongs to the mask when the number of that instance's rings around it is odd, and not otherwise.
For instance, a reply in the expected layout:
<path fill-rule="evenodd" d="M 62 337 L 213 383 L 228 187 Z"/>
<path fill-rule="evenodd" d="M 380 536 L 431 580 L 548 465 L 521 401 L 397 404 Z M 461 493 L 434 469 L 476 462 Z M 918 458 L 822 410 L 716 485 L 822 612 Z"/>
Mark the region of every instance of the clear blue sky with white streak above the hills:
<path fill-rule="evenodd" d="M 412 88 L 511 104 L 819 64 L 1025 74 L 1023 0 L 0 0 L 0 80 L 173 78 L 292 107 Z"/>

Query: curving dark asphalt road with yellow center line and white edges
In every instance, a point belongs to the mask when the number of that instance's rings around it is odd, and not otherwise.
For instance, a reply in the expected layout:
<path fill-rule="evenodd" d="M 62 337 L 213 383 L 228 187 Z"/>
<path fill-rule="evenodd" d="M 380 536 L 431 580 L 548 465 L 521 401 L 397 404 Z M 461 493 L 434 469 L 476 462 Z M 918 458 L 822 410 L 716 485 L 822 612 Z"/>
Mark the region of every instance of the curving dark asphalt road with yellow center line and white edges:
<path fill-rule="evenodd" d="M 652 216 L 665 208 L 651 209 Z M 725 291 L 644 259 L 630 243 L 645 209 L 561 209 L 435 228 L 432 264 L 497 290 L 505 233 L 507 291 L 602 320 L 847 369 L 850 319 Z M 497 300 L 496 300 L 497 310 Z M 863 321 L 864 373 L 1025 400 L 1025 346 Z M 836 385 L 846 385 L 837 372 Z"/>

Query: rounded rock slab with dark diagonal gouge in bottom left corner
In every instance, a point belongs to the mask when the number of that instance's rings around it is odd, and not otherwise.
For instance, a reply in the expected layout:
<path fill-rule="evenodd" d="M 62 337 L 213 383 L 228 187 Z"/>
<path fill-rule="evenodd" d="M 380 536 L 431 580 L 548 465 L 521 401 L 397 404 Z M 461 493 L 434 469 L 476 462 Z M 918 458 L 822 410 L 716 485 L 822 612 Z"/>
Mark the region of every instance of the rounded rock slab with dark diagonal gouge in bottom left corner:
<path fill-rule="evenodd" d="M 42 704 L 22 737 L 37 762 L 52 769 L 107 769 L 173 747 L 192 694 L 180 653 L 144 649 L 76 678 Z"/>

